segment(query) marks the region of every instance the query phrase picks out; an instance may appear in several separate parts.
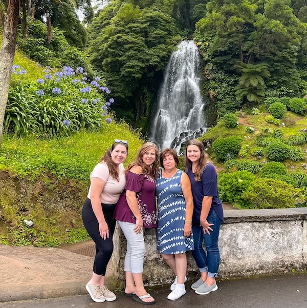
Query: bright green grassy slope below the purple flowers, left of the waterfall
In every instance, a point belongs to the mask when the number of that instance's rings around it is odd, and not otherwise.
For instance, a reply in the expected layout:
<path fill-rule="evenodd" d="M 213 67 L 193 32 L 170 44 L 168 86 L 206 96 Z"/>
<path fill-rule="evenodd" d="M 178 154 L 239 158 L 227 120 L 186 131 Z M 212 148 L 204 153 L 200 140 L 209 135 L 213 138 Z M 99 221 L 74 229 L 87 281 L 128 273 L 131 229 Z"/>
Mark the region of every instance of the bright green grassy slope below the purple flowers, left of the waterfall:
<path fill-rule="evenodd" d="M 4 136 L 0 150 L 0 170 L 9 170 L 21 178 L 36 180 L 51 172 L 60 179 L 88 180 L 89 174 L 114 139 L 128 140 L 125 165 L 134 159 L 142 140 L 124 124 L 105 124 L 97 132 L 81 131 L 69 137 L 41 139 Z"/>

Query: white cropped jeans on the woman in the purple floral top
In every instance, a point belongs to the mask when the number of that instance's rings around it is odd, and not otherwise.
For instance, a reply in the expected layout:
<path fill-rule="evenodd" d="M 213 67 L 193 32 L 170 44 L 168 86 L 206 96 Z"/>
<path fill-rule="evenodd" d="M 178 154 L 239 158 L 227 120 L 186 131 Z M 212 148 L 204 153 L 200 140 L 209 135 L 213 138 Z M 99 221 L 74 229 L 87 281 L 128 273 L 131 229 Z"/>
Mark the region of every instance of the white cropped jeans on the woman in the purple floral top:
<path fill-rule="evenodd" d="M 127 252 L 125 256 L 125 272 L 133 274 L 143 273 L 144 255 L 145 255 L 145 241 L 144 233 L 136 233 L 135 223 L 117 220 L 125 238 L 127 240 Z"/>

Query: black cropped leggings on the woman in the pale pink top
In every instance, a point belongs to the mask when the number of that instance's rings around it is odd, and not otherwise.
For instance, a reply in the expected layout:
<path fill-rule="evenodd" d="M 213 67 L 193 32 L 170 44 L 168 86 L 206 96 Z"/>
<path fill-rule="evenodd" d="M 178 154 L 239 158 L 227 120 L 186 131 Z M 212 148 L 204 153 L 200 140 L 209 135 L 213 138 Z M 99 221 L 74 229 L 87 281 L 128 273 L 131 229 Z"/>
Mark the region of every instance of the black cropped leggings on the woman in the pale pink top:
<path fill-rule="evenodd" d="M 96 244 L 96 256 L 93 265 L 93 272 L 97 275 L 105 275 L 106 265 L 111 259 L 113 253 L 113 234 L 115 230 L 116 220 L 113 219 L 113 214 L 116 204 L 101 203 L 104 219 L 109 228 L 109 237 L 102 239 L 99 229 L 98 220 L 92 209 L 92 203 L 89 198 L 86 198 L 82 209 L 82 220 L 86 231 L 92 237 Z"/>

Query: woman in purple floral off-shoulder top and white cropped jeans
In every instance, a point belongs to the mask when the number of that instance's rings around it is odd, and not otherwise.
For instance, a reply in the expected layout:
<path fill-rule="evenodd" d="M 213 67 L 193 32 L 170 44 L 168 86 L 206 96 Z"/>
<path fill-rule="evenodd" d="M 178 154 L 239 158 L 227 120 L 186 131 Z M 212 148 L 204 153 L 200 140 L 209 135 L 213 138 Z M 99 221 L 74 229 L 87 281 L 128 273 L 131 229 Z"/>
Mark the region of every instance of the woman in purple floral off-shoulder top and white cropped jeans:
<path fill-rule="evenodd" d="M 143 304 L 156 301 L 144 288 L 143 263 L 145 254 L 144 228 L 157 227 L 156 178 L 159 170 L 158 148 L 146 142 L 135 161 L 126 170 L 125 191 L 119 198 L 114 217 L 127 240 L 124 270 L 125 295 Z"/>

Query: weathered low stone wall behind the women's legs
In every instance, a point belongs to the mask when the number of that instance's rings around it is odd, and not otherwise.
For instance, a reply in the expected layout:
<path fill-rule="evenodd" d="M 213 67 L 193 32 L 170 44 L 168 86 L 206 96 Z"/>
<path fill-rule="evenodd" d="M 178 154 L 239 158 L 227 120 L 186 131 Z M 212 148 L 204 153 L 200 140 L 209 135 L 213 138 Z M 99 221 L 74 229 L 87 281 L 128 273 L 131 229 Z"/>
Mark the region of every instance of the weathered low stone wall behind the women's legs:
<path fill-rule="evenodd" d="M 307 269 L 307 208 L 226 210 L 221 226 L 219 277 L 239 277 Z M 115 234 L 113 275 L 124 280 L 126 241 Z M 145 232 L 144 283 L 170 283 L 173 273 L 157 252 L 156 229 Z M 188 275 L 198 272 L 191 253 Z"/>

